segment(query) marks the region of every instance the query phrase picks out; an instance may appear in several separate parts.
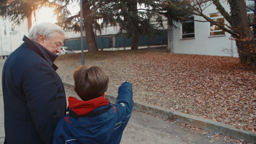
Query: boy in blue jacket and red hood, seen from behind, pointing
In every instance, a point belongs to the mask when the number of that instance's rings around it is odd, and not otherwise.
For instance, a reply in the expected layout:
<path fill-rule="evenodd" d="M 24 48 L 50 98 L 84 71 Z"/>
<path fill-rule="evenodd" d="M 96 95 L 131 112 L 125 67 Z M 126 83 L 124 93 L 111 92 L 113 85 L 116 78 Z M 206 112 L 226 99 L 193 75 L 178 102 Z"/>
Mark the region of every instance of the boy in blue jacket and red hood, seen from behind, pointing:
<path fill-rule="evenodd" d="M 117 101 L 111 105 L 105 99 L 108 74 L 101 67 L 79 67 L 74 81 L 82 100 L 68 98 L 69 114 L 58 122 L 54 143 L 120 143 L 134 106 L 132 84 L 122 83 Z"/>

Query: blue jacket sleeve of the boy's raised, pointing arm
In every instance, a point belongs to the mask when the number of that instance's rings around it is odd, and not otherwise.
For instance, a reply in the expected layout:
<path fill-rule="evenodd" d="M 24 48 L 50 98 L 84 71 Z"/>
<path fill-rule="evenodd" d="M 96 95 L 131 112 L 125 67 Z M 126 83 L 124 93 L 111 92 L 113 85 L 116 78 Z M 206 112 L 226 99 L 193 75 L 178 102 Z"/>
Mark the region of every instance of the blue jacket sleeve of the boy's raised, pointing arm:
<path fill-rule="evenodd" d="M 130 82 L 124 82 L 118 88 L 118 96 L 116 98 L 115 104 L 124 103 L 126 107 L 126 116 L 129 116 L 132 113 L 134 107 L 133 100 L 133 87 Z"/>

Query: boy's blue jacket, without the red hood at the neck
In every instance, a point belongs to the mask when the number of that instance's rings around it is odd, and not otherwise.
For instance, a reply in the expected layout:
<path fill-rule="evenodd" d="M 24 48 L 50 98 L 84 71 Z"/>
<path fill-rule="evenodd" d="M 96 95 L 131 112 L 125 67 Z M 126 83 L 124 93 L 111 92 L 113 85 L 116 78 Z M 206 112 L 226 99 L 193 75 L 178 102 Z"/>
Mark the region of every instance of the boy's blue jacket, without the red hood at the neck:
<path fill-rule="evenodd" d="M 54 143 L 120 143 L 134 106 L 131 83 L 122 83 L 116 100 L 85 115 L 70 111 L 58 122 Z"/>

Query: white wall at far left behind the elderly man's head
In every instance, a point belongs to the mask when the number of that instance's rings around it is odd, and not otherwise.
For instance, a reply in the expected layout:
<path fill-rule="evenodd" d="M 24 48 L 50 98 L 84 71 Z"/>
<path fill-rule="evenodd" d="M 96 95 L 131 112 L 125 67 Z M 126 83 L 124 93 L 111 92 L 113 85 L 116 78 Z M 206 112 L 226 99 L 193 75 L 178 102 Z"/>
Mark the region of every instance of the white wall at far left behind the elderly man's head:
<path fill-rule="evenodd" d="M 0 56 L 9 55 L 20 47 L 24 35 L 28 36 L 28 33 L 27 19 L 22 24 L 17 25 L 10 20 L 0 18 Z"/>

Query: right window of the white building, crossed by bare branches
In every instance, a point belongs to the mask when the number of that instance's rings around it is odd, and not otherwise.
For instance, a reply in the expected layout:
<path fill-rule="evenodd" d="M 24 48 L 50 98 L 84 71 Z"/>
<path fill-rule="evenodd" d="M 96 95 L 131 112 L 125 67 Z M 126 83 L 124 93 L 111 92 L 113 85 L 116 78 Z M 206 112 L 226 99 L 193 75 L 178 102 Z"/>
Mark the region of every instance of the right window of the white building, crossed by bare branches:
<path fill-rule="evenodd" d="M 223 24 L 221 24 L 222 26 L 224 25 L 224 17 L 220 14 L 210 14 L 210 18 L 215 21 L 215 22 L 222 22 Z M 225 35 L 225 32 L 222 31 L 222 29 L 216 25 L 213 25 L 210 23 L 210 36 L 216 36 L 216 35 Z"/>

